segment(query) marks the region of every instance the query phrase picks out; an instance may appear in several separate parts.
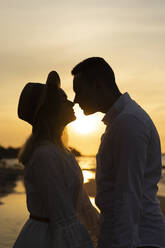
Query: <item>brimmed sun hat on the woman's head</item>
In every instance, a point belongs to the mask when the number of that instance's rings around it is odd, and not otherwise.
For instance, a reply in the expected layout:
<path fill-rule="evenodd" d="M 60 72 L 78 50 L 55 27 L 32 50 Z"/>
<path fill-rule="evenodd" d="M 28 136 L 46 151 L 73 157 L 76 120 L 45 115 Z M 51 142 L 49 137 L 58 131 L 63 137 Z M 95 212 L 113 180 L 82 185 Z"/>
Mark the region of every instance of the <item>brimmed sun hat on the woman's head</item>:
<path fill-rule="evenodd" d="M 33 126 L 35 118 L 48 97 L 55 97 L 60 88 L 60 77 L 56 71 L 48 74 L 46 84 L 27 83 L 18 102 L 18 117 Z"/>

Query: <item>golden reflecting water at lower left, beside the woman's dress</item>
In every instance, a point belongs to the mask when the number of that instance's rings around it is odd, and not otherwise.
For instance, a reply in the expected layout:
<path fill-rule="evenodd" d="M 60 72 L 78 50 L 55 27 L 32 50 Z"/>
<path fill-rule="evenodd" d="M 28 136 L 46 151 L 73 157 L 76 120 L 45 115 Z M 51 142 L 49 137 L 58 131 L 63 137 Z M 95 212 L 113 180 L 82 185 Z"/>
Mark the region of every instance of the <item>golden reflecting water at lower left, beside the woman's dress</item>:
<path fill-rule="evenodd" d="M 28 217 L 26 196 L 22 181 L 18 181 L 15 192 L 1 198 L 0 248 L 10 248 Z"/>

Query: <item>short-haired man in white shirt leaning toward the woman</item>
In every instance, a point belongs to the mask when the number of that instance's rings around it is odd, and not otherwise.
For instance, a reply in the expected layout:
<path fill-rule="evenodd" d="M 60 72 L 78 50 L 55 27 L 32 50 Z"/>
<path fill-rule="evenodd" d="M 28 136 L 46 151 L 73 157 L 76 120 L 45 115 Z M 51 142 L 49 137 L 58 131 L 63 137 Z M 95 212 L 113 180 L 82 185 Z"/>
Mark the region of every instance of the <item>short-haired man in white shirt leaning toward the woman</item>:
<path fill-rule="evenodd" d="M 99 248 L 165 247 L 165 219 L 156 197 L 161 149 L 148 114 L 121 94 L 107 62 L 88 58 L 72 70 L 74 102 L 86 115 L 105 113 L 97 154 Z"/>

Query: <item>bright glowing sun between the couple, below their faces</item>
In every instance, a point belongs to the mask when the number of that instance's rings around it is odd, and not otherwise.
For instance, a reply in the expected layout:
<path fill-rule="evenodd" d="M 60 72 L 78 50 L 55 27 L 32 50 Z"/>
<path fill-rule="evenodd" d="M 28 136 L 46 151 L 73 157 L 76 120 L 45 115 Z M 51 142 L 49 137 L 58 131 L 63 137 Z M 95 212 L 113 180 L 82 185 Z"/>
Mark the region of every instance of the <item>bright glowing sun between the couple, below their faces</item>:
<path fill-rule="evenodd" d="M 98 118 L 96 115 L 86 116 L 83 110 L 76 104 L 74 106 L 76 120 L 70 124 L 70 127 L 79 134 L 89 134 L 96 131 L 98 126 Z"/>

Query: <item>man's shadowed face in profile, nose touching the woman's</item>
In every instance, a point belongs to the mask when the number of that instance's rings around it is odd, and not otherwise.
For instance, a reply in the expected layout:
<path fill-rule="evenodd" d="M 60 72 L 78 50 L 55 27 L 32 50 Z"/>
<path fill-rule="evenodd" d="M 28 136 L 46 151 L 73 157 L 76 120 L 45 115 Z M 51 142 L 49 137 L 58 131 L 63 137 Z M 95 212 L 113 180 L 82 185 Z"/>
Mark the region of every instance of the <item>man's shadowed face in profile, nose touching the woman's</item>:
<path fill-rule="evenodd" d="M 78 103 L 85 115 L 98 111 L 98 92 L 93 82 L 88 82 L 82 75 L 77 74 L 73 79 L 73 90 L 75 92 L 74 103 Z"/>

